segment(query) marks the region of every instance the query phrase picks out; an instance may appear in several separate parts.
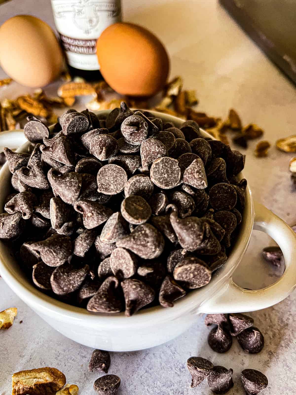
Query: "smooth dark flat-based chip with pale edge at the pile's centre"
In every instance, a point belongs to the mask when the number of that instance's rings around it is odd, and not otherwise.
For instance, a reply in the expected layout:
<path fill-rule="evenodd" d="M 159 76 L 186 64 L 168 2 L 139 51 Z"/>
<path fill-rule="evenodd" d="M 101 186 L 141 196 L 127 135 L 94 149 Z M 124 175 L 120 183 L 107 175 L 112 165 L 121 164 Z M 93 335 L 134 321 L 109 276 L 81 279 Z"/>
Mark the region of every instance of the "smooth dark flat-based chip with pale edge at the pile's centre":
<path fill-rule="evenodd" d="M 144 224 L 151 216 L 151 208 L 141 196 L 131 195 L 125 198 L 120 207 L 122 216 L 133 225 Z"/>

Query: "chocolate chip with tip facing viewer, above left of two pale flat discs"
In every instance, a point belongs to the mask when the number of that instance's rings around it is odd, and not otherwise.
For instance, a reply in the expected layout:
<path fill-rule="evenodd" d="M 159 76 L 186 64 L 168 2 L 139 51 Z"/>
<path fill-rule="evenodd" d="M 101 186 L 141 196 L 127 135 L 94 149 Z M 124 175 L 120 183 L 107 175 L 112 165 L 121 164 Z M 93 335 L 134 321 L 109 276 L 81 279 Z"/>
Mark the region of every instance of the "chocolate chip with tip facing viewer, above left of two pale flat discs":
<path fill-rule="evenodd" d="M 90 154 L 99 160 L 108 160 L 118 152 L 118 143 L 109 134 L 100 134 L 92 138 L 90 142 Z"/>

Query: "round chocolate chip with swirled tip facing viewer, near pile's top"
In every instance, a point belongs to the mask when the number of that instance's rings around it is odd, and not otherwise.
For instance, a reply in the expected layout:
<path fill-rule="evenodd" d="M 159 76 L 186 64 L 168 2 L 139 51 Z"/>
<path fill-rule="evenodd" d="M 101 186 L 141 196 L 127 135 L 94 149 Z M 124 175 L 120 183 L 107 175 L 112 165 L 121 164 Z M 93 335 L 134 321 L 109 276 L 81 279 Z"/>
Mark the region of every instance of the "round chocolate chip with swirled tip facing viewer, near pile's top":
<path fill-rule="evenodd" d="M 148 124 L 139 115 L 127 117 L 121 124 L 124 140 L 131 145 L 139 145 L 148 136 Z"/>

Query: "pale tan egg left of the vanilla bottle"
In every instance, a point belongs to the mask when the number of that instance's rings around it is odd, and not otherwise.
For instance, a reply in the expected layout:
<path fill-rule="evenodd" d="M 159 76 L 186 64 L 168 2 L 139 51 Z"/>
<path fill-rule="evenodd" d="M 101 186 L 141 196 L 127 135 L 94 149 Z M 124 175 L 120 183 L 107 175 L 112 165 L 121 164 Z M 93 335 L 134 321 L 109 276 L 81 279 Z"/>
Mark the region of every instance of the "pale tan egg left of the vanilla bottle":
<path fill-rule="evenodd" d="M 17 15 L 0 27 L 0 65 L 26 87 L 44 87 L 59 75 L 63 54 L 51 27 L 39 18 Z"/>

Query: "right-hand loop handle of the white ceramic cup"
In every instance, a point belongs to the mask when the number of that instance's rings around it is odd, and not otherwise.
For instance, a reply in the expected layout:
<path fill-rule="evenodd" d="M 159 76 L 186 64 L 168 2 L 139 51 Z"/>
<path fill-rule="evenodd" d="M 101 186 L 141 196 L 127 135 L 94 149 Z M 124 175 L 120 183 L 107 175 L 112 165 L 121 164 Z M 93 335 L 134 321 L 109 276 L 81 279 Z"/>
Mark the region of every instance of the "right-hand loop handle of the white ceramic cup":
<path fill-rule="evenodd" d="M 254 229 L 276 241 L 285 258 L 285 271 L 274 284 L 260 290 L 239 287 L 230 277 L 221 290 L 200 305 L 198 312 L 230 313 L 255 311 L 279 303 L 296 288 L 296 234 L 281 218 L 254 201 Z"/>

